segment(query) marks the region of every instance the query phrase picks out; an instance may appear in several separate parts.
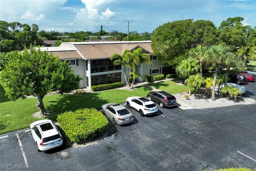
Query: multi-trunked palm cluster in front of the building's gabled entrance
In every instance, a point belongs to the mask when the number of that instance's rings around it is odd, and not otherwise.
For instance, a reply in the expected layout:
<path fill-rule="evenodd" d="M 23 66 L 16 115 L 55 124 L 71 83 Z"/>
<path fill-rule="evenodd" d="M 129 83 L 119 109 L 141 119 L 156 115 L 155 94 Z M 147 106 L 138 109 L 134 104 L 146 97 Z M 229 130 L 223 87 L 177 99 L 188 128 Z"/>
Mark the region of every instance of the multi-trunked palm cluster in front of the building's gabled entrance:
<path fill-rule="evenodd" d="M 129 83 L 128 83 L 127 76 L 126 76 L 126 67 L 131 68 L 131 73 L 134 74 L 134 76 L 138 76 L 138 77 L 133 76 L 132 82 L 134 83 L 135 78 L 140 78 L 140 76 L 141 76 L 140 75 L 141 73 L 135 72 L 136 66 L 139 66 L 140 64 L 148 64 L 148 65 L 152 66 L 150 56 L 148 56 L 145 53 L 142 53 L 141 48 L 137 48 L 137 49 L 133 50 L 133 52 L 130 52 L 128 49 L 126 49 L 122 55 L 113 54 L 110 57 L 110 60 L 114 60 L 114 65 L 122 65 L 123 66 L 124 78 L 126 81 L 126 85 L 130 89 L 132 88 L 133 84 L 129 85 Z"/>

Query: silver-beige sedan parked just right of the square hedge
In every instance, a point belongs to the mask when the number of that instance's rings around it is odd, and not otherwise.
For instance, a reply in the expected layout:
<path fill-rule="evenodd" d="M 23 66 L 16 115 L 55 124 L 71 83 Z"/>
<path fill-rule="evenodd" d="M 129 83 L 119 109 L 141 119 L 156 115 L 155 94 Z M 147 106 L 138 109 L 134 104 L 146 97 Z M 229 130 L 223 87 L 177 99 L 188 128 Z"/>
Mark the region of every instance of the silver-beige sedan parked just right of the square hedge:
<path fill-rule="evenodd" d="M 106 114 L 114 124 L 118 125 L 131 123 L 134 119 L 132 113 L 130 113 L 123 105 L 116 103 L 102 105 L 101 112 Z"/>

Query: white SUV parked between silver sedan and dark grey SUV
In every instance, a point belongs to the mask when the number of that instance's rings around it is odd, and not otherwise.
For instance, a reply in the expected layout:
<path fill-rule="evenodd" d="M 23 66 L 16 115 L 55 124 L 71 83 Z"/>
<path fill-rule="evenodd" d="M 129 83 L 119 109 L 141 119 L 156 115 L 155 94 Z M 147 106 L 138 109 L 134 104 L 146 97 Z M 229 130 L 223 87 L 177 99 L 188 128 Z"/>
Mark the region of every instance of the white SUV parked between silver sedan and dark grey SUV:
<path fill-rule="evenodd" d="M 156 104 L 146 97 L 128 97 L 126 99 L 126 105 L 127 107 L 133 107 L 136 109 L 141 116 L 152 115 L 158 111 Z"/>

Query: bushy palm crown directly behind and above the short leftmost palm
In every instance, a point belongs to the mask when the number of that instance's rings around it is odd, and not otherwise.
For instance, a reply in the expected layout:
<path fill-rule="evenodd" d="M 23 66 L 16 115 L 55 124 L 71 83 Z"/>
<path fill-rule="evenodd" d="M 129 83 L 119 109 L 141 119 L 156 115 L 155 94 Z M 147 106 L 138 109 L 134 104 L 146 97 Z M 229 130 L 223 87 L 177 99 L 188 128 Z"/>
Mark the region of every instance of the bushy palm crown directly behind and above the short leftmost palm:
<path fill-rule="evenodd" d="M 188 58 L 182 60 L 180 65 L 176 67 L 177 75 L 182 78 L 183 82 L 192 74 L 197 74 L 200 68 L 198 60 L 194 58 Z"/>

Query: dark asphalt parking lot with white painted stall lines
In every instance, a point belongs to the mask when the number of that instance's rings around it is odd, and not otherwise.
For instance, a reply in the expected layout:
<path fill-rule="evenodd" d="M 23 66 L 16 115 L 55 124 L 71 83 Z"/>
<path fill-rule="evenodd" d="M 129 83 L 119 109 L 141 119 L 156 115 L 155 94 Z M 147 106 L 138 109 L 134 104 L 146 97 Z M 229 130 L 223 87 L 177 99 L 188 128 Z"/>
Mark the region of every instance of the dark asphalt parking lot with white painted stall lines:
<path fill-rule="evenodd" d="M 246 85 L 254 97 L 256 85 Z M 158 106 L 159 107 L 159 106 Z M 129 125 L 112 125 L 95 145 L 36 151 L 27 129 L 1 135 L 2 170 L 214 171 L 256 168 L 256 105 L 210 109 L 160 108 L 156 115 L 134 113 Z M 28 167 L 28 168 L 26 168 Z"/>

